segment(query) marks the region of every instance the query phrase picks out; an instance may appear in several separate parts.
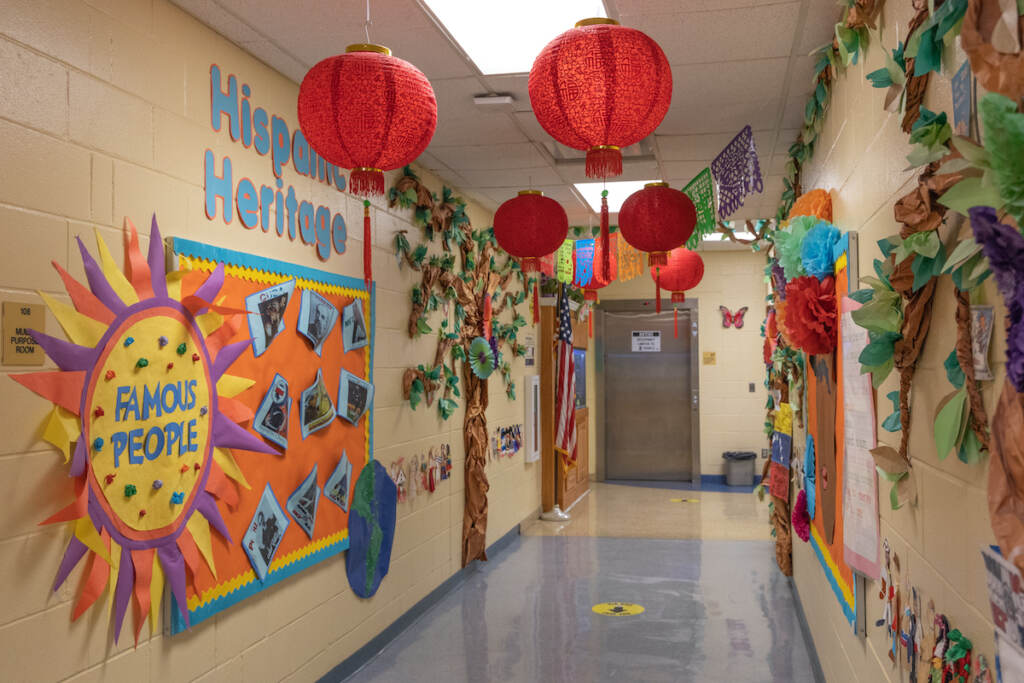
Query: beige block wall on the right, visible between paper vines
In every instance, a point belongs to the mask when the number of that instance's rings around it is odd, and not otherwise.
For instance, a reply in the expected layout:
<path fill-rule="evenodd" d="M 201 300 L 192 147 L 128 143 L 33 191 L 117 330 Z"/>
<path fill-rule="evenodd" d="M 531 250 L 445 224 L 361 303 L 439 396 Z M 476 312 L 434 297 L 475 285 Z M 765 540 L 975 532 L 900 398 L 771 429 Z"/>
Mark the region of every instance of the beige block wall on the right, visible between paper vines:
<path fill-rule="evenodd" d="M 892 48 L 905 39 L 911 11 L 908 2 L 885 5 L 882 45 Z M 964 60 L 963 53 L 954 53 L 952 48 L 947 54 L 948 63 L 954 68 Z M 830 190 L 834 222 L 844 230 L 859 231 L 862 274 L 872 271 L 871 261 L 880 255 L 876 242 L 899 229 L 893 218 L 893 205 L 916 184 L 916 175 L 903 170 L 910 147 L 907 135 L 900 129 L 901 118 L 883 110 L 884 91 L 871 88 L 865 80 L 867 73 L 883 66 L 882 46 L 872 35 L 866 58 L 850 67 L 836 82 L 821 139 L 804 175 L 806 189 Z M 925 104 L 932 111 L 949 113 L 951 123 L 950 76 L 951 73 L 932 75 Z M 965 226 L 963 234 L 969 231 Z M 982 299 L 996 305 L 997 315 L 1005 314 L 990 285 L 986 284 Z M 952 285 L 944 276 L 936 290 L 932 329 L 911 393 L 910 456 L 919 502 L 915 507 L 890 510 L 889 484 L 882 482 L 881 537 L 889 540 L 899 555 L 904 575 L 908 574 L 912 585 L 923 593 L 923 604 L 927 606 L 928 600 L 934 600 L 936 610 L 944 612 L 951 627 L 970 638 L 975 652 L 983 652 L 991 666 L 993 626 L 979 552 L 983 545 L 994 543 L 986 503 L 988 464 L 986 461 L 967 466 L 955 456 L 940 463 L 932 437 L 935 407 L 952 390 L 942 361 L 952 350 L 955 339 L 954 309 Z M 998 323 L 995 327 L 1001 329 Z M 981 385 L 989 416 L 994 409 L 995 387 L 1001 386 L 1005 377 L 1005 343 L 1002 335 L 995 337 L 989 358 L 996 380 Z M 885 395 L 898 388 L 895 377 L 893 373 L 877 392 L 880 423 L 892 413 L 892 404 Z M 899 444 L 898 433 L 880 429 L 879 438 L 893 446 Z M 795 442 L 803 443 L 803 436 L 798 435 Z M 873 626 L 883 611 L 883 603 L 878 599 L 879 585 L 867 584 L 867 638 L 854 636 L 843 620 L 813 550 L 799 539 L 794 544 L 797 587 L 827 680 L 864 683 L 906 680 L 905 665 L 901 671 L 888 658 L 885 629 Z"/>

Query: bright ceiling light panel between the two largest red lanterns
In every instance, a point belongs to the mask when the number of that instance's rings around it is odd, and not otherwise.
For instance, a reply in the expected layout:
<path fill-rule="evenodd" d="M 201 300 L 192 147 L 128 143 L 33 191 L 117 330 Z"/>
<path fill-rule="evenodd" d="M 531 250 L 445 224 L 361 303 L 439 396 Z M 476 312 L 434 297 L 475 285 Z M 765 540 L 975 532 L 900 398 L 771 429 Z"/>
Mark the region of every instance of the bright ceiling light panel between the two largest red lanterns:
<path fill-rule="evenodd" d="M 529 71 L 544 46 L 580 19 L 607 16 L 601 0 L 424 0 L 484 74 Z"/>

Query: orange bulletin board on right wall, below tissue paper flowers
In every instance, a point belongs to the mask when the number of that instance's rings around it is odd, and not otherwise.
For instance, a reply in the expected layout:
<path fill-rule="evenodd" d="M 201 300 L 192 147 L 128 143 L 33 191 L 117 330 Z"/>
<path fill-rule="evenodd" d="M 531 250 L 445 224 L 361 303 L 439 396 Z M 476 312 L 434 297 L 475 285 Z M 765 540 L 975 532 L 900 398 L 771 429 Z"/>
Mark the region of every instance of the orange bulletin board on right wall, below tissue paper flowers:
<path fill-rule="evenodd" d="M 843 297 L 849 292 L 847 264 L 848 254 L 844 252 L 836 261 L 837 311 L 842 310 Z M 842 316 L 838 316 L 838 321 L 841 319 Z M 838 336 L 842 338 L 842 335 Z M 843 614 L 856 629 L 859 602 L 857 579 L 843 559 L 843 354 L 837 351 L 830 357 L 808 355 L 805 375 L 807 431 L 814 438 L 816 469 L 811 546 Z M 834 459 L 826 454 L 828 444 L 834 444 Z"/>

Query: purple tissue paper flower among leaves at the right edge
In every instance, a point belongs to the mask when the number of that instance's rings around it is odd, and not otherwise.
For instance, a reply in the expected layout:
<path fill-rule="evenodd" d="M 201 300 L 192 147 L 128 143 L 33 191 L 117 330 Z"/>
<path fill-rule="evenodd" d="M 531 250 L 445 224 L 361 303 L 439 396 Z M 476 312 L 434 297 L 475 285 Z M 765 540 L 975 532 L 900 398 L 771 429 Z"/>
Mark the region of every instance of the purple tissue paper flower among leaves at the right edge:
<path fill-rule="evenodd" d="M 988 258 L 1010 313 L 1007 375 L 1017 391 L 1024 391 L 1024 237 L 1000 223 L 995 209 L 975 207 L 970 214 L 974 237 Z"/>

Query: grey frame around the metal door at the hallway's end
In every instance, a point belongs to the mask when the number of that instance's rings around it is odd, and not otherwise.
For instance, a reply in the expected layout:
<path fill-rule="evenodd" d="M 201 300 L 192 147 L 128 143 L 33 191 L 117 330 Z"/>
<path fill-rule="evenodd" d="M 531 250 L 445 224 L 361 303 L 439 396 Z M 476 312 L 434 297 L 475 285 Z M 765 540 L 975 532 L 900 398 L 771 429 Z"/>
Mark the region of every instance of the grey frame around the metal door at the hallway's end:
<path fill-rule="evenodd" d="M 671 312 L 671 306 L 676 306 L 680 310 L 689 312 L 691 338 L 690 343 L 690 377 L 693 382 L 690 386 L 690 482 L 700 483 L 700 337 L 698 336 L 699 326 L 697 324 L 697 313 L 699 312 L 699 301 L 696 298 L 687 298 L 679 304 L 668 304 L 663 308 L 663 312 Z M 597 304 L 592 314 L 594 317 L 594 345 L 591 351 L 594 353 L 594 396 L 596 405 L 591 410 L 596 411 L 594 424 L 597 427 L 594 434 L 597 453 L 592 454 L 595 458 L 596 477 L 598 481 L 606 479 L 607 472 L 607 452 L 605 450 L 605 429 L 607 429 L 606 415 L 606 394 L 604 391 L 604 354 L 606 312 L 629 312 L 629 313 L 649 313 L 651 312 L 650 299 L 611 299 L 601 301 Z M 680 330 L 680 334 L 687 331 Z"/>

